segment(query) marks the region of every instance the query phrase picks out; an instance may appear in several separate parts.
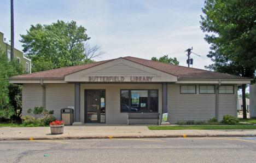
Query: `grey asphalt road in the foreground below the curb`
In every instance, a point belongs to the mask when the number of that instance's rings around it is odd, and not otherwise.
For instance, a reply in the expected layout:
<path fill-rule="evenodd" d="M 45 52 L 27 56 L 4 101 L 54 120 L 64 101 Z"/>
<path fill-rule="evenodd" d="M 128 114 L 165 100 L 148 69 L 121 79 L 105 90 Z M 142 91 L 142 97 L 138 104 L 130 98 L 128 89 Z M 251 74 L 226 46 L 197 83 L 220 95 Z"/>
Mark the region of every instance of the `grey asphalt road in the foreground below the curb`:
<path fill-rule="evenodd" d="M 0 162 L 255 162 L 256 137 L 0 141 Z"/>

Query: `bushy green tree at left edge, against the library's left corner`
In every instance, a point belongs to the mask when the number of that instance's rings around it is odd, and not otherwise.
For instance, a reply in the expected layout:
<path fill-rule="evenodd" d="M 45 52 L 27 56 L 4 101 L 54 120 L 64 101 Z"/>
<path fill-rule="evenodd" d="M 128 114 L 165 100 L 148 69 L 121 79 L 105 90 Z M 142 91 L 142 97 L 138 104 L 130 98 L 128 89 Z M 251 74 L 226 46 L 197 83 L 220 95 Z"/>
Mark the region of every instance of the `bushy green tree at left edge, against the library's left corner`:
<path fill-rule="evenodd" d="M 8 61 L 6 53 L 0 49 L 0 119 L 20 117 L 22 109 L 22 86 L 9 84 L 8 78 L 25 74 L 25 69 L 18 60 Z"/>

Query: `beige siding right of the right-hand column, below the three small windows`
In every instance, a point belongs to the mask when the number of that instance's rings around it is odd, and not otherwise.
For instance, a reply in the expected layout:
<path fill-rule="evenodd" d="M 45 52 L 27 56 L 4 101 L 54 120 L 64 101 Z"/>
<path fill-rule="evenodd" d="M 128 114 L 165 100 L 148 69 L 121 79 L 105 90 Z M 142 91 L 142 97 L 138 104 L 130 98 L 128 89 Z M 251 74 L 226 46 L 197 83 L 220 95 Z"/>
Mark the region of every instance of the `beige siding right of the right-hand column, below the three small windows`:
<path fill-rule="evenodd" d="M 217 85 L 216 85 L 217 87 Z M 235 94 L 219 94 L 218 120 L 223 115 L 236 117 L 236 85 Z M 168 84 L 168 122 L 177 123 L 187 120 L 208 120 L 216 117 L 216 94 L 199 94 L 199 85 L 196 85 L 196 94 L 180 94 L 179 84 Z"/>

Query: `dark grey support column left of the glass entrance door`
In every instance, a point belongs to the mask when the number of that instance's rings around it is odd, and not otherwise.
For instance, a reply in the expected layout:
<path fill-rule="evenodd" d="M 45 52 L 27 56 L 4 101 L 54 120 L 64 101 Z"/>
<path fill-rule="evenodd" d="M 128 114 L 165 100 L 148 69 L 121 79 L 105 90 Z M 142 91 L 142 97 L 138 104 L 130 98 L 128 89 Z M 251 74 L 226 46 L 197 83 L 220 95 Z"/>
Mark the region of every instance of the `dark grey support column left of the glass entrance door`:
<path fill-rule="evenodd" d="M 80 83 L 75 83 L 75 115 L 73 125 L 80 125 Z"/>

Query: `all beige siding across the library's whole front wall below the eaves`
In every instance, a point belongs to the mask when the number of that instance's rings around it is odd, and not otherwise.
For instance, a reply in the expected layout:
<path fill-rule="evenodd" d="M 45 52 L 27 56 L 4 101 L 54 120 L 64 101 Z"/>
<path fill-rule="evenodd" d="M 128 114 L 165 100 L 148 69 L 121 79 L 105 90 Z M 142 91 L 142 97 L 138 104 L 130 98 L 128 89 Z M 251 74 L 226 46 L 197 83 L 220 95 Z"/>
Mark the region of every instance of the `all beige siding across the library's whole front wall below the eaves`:
<path fill-rule="evenodd" d="M 46 109 L 55 110 L 54 116 L 60 119 L 60 109 L 74 106 L 74 84 L 44 84 L 46 90 Z M 217 86 L 217 85 L 216 85 Z M 168 84 L 168 121 L 177 123 L 185 120 L 208 120 L 215 117 L 216 94 L 180 94 L 179 84 Z M 235 85 L 236 88 L 236 85 Z M 120 90 L 157 89 L 159 90 L 159 113 L 162 111 L 161 84 L 81 84 L 80 85 L 80 121 L 84 123 L 84 90 L 106 90 L 106 123 L 126 124 L 127 113 L 120 113 Z M 236 117 L 235 94 L 219 95 L 219 117 L 229 114 Z M 43 88 L 40 84 L 23 85 L 23 116 L 27 109 L 43 105 Z M 131 124 L 156 124 L 156 120 L 131 120 Z"/>

